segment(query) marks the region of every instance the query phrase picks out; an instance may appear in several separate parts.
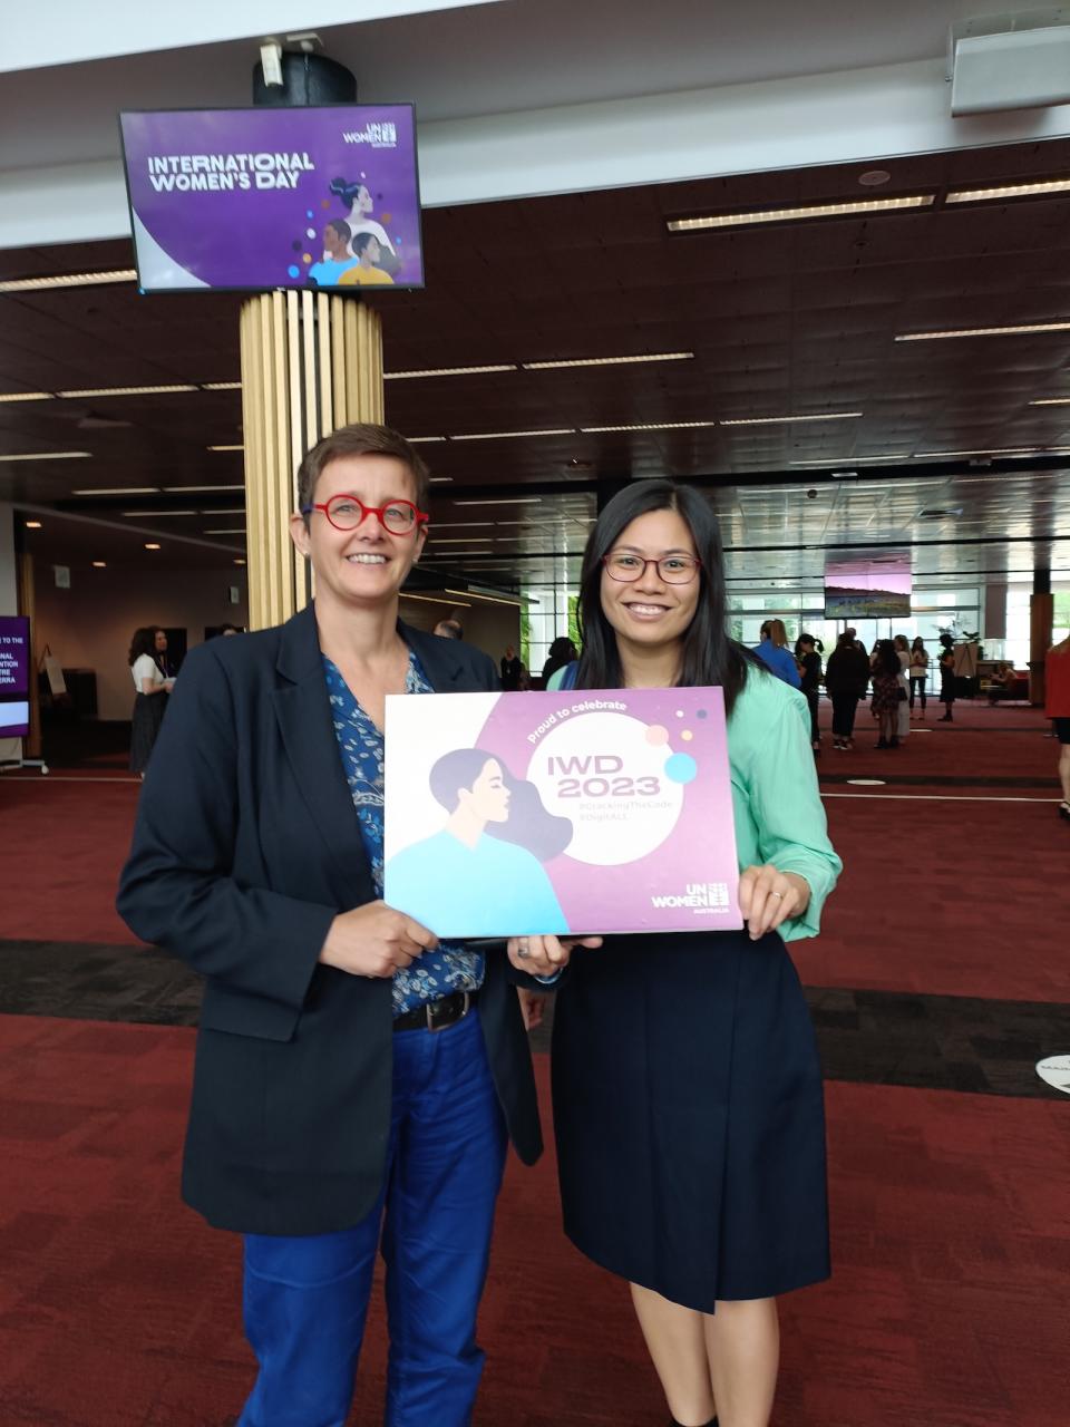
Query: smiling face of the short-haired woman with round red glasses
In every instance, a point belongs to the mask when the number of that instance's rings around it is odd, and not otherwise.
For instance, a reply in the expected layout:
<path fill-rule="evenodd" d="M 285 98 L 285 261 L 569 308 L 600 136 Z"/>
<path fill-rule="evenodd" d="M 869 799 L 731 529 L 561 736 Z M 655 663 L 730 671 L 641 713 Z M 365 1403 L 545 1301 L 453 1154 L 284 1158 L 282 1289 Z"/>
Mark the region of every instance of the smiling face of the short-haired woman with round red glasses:
<path fill-rule="evenodd" d="M 332 495 L 355 495 L 365 505 L 417 501 L 412 472 L 392 455 L 345 455 L 328 461 L 310 504 L 327 504 Z M 357 529 L 340 531 L 322 511 L 308 524 L 291 515 L 290 535 L 315 571 L 317 604 L 348 608 L 397 602 L 398 591 L 419 558 L 427 539 L 421 525 L 408 535 L 391 535 L 375 515 L 365 515 Z"/>

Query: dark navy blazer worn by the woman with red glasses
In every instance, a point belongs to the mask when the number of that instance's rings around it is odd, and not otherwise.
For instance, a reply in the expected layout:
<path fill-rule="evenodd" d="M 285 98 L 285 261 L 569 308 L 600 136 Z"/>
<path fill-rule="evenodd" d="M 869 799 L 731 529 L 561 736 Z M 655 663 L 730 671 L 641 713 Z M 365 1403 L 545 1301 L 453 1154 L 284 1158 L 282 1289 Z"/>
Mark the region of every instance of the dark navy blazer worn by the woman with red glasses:
<path fill-rule="evenodd" d="M 401 626 L 437 692 L 499 688 L 492 661 Z M 375 896 L 312 609 L 194 649 L 141 791 L 118 912 L 205 979 L 183 1197 L 244 1233 L 348 1229 L 382 1183 L 391 982 L 317 960 L 338 912 Z M 535 1080 L 501 950 L 479 1019 L 509 1136 L 542 1150 Z"/>

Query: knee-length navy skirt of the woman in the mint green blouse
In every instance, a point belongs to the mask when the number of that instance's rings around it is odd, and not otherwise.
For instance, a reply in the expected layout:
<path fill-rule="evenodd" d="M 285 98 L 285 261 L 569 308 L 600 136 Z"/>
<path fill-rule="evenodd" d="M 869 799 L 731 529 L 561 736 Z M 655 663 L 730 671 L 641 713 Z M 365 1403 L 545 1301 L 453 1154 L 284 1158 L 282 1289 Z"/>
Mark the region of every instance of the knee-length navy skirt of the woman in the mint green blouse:
<path fill-rule="evenodd" d="M 829 1276 L 820 1065 L 776 933 L 612 936 L 554 1013 L 565 1233 L 673 1303 Z"/>

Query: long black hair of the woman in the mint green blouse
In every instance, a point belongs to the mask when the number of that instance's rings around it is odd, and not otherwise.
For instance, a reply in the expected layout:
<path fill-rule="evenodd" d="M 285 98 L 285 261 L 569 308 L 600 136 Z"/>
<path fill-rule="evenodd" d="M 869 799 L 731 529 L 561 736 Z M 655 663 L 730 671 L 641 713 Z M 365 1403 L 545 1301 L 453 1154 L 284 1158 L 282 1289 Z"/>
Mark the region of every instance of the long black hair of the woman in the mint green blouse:
<path fill-rule="evenodd" d="M 618 491 L 588 537 L 579 574 L 578 619 L 584 654 L 576 688 L 616 689 L 623 682 L 616 634 L 602 611 L 602 558 L 632 521 L 651 511 L 676 511 L 688 525 L 695 554 L 702 562 L 699 602 L 683 635 L 679 684 L 682 688 L 719 684 L 725 691 L 725 709 L 730 714 L 748 678 L 759 668 L 758 661 L 729 639 L 725 629 L 725 559 L 713 507 L 693 487 L 665 479 L 636 481 Z"/>

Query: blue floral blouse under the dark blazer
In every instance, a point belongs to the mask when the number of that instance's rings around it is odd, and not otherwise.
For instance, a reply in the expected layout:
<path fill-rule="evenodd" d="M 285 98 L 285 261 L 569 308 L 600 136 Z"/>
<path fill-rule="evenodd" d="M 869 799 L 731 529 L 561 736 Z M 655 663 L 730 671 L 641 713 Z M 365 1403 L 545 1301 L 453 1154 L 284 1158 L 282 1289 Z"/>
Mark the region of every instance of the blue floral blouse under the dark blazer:
<path fill-rule="evenodd" d="M 360 706 L 337 665 L 327 655 L 322 661 L 345 779 L 371 863 L 375 895 L 382 896 L 382 733 Z M 405 694 L 434 692 L 419 661 L 409 651 Z M 455 990 L 478 990 L 482 980 L 481 952 L 468 950 L 462 942 L 441 942 L 434 952 L 424 952 L 411 966 L 394 973 L 394 1015 L 401 1016 Z"/>

